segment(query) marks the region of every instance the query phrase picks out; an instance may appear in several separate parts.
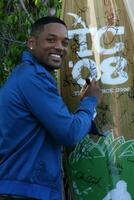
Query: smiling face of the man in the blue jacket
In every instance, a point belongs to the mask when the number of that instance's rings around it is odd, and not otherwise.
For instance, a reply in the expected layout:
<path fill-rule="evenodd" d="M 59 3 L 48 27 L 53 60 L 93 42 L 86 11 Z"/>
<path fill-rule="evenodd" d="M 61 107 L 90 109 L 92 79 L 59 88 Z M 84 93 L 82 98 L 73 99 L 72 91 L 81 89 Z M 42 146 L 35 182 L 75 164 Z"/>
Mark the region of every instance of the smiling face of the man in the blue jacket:
<path fill-rule="evenodd" d="M 38 62 L 50 69 L 58 69 L 67 55 L 67 29 L 60 23 L 44 25 L 38 37 L 32 37 L 29 48 Z"/>

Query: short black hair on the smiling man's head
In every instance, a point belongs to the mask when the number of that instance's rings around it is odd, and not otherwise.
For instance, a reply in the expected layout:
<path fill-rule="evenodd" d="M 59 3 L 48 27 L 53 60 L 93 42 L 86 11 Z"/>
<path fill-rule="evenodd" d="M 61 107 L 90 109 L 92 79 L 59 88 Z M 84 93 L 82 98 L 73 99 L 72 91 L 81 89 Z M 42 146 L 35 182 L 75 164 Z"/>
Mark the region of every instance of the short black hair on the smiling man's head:
<path fill-rule="evenodd" d="M 55 16 L 46 16 L 46 17 L 42 17 L 40 19 L 38 19 L 37 21 L 35 21 L 34 24 L 32 24 L 31 26 L 31 36 L 38 36 L 41 31 L 44 29 L 44 25 L 49 24 L 49 23 L 60 23 L 63 24 L 66 28 L 67 25 L 65 24 L 65 22 L 63 20 L 61 20 L 58 17 Z"/>

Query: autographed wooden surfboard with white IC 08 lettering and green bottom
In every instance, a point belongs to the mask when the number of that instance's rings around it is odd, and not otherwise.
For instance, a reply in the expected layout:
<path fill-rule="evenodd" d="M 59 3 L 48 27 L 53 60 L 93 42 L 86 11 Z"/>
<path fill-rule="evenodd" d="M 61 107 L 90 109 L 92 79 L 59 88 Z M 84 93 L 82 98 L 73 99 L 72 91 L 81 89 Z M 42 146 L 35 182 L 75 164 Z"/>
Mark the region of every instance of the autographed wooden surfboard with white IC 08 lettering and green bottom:
<path fill-rule="evenodd" d="M 134 198 L 133 3 L 63 1 L 70 47 L 61 70 L 61 94 L 74 111 L 86 77 L 99 80 L 103 93 L 95 122 L 105 137 L 87 136 L 67 151 L 76 200 L 106 200 L 116 193 L 126 195 L 126 200 Z"/>

